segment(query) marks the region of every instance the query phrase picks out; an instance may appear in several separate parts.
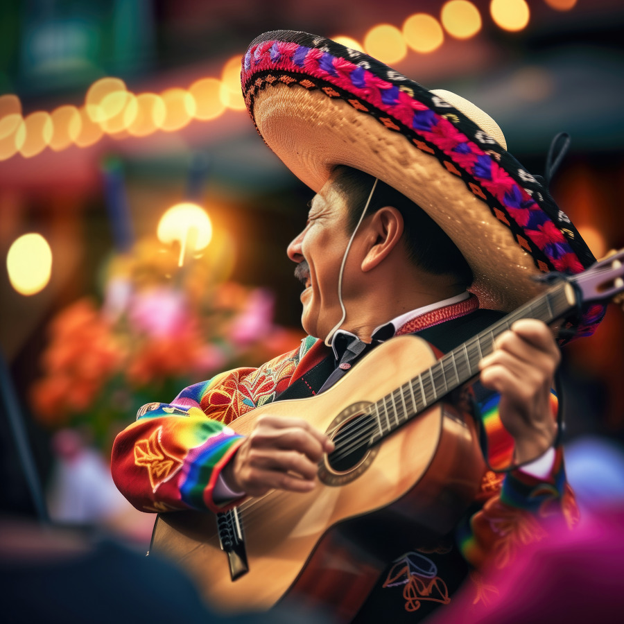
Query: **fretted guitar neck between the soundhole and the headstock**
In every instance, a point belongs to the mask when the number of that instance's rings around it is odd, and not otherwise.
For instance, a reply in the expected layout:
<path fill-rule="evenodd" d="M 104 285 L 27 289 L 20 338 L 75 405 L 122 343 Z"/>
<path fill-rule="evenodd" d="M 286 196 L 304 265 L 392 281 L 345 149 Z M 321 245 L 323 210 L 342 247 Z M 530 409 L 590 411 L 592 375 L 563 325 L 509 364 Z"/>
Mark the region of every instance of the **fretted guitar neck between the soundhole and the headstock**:
<path fill-rule="evenodd" d="M 521 318 L 535 318 L 549 324 L 573 309 L 576 297 L 571 284 L 562 282 L 539 295 L 466 343 L 449 352 L 431 368 L 385 395 L 370 408 L 376 432 L 370 446 L 378 444 L 409 419 L 422 413 L 450 392 L 478 375 L 479 361 L 494 349 L 494 341 Z"/>

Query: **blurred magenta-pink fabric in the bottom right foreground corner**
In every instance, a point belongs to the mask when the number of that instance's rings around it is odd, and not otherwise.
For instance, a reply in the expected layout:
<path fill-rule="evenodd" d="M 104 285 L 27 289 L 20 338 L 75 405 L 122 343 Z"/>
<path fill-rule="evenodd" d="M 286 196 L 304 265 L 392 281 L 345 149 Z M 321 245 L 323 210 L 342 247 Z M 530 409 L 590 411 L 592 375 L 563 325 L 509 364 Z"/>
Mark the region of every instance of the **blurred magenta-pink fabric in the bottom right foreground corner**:
<path fill-rule="evenodd" d="M 574 530 L 554 529 L 509 569 L 483 575 L 487 604 L 473 604 L 467 580 L 428 624 L 624 622 L 624 503 L 586 514 Z"/>

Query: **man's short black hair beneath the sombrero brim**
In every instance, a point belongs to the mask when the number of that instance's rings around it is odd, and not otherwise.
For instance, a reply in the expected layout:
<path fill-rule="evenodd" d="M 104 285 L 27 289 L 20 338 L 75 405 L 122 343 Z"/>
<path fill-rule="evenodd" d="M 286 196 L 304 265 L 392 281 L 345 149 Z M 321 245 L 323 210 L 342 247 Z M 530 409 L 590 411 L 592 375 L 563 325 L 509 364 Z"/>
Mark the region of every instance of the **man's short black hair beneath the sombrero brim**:
<path fill-rule="evenodd" d="M 370 195 L 375 178 L 359 169 L 338 165 L 333 183 L 347 200 L 347 228 L 353 232 Z M 403 239 L 408 259 L 433 275 L 452 275 L 467 288 L 473 275 L 460 250 L 444 230 L 415 202 L 379 180 L 365 216 L 384 206 L 395 207 L 403 216 Z"/>

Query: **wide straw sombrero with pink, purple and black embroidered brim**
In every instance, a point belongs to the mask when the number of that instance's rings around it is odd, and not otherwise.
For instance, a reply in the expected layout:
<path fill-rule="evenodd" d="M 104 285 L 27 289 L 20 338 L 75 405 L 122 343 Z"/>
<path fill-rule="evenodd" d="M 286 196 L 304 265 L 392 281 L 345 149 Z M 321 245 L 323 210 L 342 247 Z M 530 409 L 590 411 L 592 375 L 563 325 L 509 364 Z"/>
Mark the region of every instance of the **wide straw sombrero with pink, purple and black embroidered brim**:
<path fill-rule="evenodd" d="M 313 191 L 344 164 L 427 211 L 467 259 L 482 307 L 512 311 L 543 291 L 533 276 L 577 273 L 596 261 L 546 184 L 464 98 L 296 31 L 257 37 L 241 84 L 260 136 Z M 602 306 L 585 311 L 574 332 L 592 333 L 603 313 Z"/>

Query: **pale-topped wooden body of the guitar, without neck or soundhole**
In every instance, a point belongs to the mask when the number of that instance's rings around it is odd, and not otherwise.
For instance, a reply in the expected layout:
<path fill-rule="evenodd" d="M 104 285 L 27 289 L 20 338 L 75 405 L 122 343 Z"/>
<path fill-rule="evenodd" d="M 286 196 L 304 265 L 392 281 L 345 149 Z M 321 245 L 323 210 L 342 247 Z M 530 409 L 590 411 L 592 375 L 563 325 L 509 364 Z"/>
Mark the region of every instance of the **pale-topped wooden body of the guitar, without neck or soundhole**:
<path fill-rule="evenodd" d="M 276 401 L 230 426 L 250 433 L 270 413 L 335 431 L 433 363 L 423 340 L 393 338 L 321 395 Z M 286 597 L 328 607 L 349 621 L 385 564 L 452 530 L 484 471 L 473 424 L 437 404 L 354 457 L 352 465 L 336 469 L 326 460 L 312 492 L 270 492 L 242 503 L 248 571 L 236 580 L 214 514 L 160 514 L 151 552 L 179 562 L 220 611 L 268 609 Z"/>

